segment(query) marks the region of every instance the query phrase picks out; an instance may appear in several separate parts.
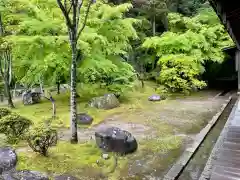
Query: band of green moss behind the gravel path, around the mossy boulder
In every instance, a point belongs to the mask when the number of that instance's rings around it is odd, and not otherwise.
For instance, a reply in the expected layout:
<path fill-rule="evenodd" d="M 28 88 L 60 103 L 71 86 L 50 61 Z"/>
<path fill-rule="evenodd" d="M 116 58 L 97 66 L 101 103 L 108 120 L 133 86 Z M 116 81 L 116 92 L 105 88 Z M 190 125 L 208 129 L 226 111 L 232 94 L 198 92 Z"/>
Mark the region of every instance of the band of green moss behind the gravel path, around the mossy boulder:
<path fill-rule="evenodd" d="M 149 84 L 149 85 L 148 85 Z M 121 106 L 118 108 L 110 110 L 102 110 L 96 108 L 87 107 L 88 100 L 94 95 L 102 95 L 103 92 L 88 94 L 82 92 L 84 96 L 81 96 L 78 103 L 78 112 L 85 112 L 94 118 L 93 124 L 96 125 L 107 119 L 108 117 L 122 113 L 122 112 L 133 112 L 136 110 L 142 110 L 149 108 L 151 102 L 147 102 L 147 98 L 154 93 L 154 87 L 152 83 L 147 83 L 144 89 L 140 91 L 126 92 L 124 96 L 121 97 Z M 69 117 L 70 117 L 70 101 L 69 93 L 54 95 L 56 100 L 56 113 L 57 118 L 53 121 L 53 126 L 55 127 L 66 127 L 69 128 Z M 158 103 L 158 102 L 157 102 Z M 41 103 L 34 104 L 30 106 L 24 106 L 22 103 L 17 103 L 16 108 L 13 109 L 14 112 L 31 119 L 34 123 L 39 123 L 43 120 L 49 119 L 52 116 L 52 104 L 50 101 L 43 99 Z M 86 127 L 86 126 L 84 126 Z"/>

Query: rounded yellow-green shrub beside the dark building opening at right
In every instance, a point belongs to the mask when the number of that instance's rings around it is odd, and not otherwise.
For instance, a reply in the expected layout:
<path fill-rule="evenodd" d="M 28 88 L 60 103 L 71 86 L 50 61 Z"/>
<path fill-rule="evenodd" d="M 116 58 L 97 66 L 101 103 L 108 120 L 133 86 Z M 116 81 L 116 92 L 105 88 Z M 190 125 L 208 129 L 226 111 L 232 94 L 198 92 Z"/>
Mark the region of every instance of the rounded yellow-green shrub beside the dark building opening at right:
<path fill-rule="evenodd" d="M 159 60 L 161 73 L 159 81 L 172 92 L 189 93 L 195 88 L 203 88 L 206 83 L 197 79 L 200 74 L 198 63 L 185 55 L 163 56 Z"/>

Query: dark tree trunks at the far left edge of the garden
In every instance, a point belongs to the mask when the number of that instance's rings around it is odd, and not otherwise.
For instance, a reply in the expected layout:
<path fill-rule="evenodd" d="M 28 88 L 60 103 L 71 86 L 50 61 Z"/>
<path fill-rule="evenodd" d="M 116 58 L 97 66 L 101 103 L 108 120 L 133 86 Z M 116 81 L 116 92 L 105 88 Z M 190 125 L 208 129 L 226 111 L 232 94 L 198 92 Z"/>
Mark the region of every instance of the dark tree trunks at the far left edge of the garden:
<path fill-rule="evenodd" d="M 5 36 L 7 33 L 5 32 L 2 14 L 0 12 L 0 73 L 4 81 L 4 89 L 6 96 L 8 98 L 8 106 L 14 108 L 12 95 L 10 91 L 10 83 L 11 83 L 11 68 L 12 68 L 12 56 L 11 56 L 11 46 L 5 41 Z"/>

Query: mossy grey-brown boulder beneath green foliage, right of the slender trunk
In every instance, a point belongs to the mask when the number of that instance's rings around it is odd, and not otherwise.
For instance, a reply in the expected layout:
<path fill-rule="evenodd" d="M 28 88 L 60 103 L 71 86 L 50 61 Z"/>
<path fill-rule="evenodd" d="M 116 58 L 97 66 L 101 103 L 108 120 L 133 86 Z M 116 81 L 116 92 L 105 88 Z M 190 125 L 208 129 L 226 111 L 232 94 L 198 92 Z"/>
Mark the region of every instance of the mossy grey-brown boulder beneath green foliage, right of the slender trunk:
<path fill-rule="evenodd" d="M 101 97 L 95 97 L 89 102 L 90 107 L 99 109 L 112 109 L 120 105 L 117 97 L 114 94 L 105 94 Z"/>

